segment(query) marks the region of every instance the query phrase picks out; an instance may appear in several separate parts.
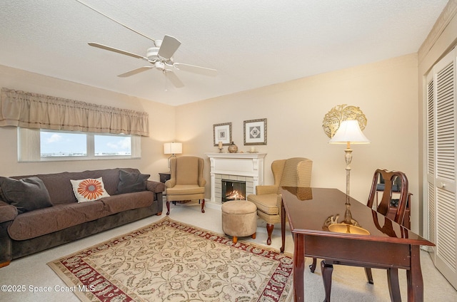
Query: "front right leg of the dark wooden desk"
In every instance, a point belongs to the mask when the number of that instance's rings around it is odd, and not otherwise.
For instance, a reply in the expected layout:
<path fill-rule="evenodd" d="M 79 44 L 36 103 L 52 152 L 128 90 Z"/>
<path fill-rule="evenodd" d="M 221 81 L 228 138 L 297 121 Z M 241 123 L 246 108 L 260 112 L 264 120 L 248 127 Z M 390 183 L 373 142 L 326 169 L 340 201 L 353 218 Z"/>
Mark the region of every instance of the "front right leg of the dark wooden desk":
<path fill-rule="evenodd" d="M 418 245 L 411 245 L 411 269 L 406 271 L 408 302 L 423 302 L 423 279 L 421 251 Z"/>

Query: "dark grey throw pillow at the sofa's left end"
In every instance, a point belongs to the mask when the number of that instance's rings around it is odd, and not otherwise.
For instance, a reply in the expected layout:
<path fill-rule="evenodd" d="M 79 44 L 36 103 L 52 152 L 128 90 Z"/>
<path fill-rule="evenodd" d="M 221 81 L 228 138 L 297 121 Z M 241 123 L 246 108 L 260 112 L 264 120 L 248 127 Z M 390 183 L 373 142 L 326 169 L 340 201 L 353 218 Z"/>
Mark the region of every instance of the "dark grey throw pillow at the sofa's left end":
<path fill-rule="evenodd" d="M 19 214 L 52 207 L 51 197 L 38 177 L 14 179 L 0 177 L 1 198 L 17 208 Z"/>

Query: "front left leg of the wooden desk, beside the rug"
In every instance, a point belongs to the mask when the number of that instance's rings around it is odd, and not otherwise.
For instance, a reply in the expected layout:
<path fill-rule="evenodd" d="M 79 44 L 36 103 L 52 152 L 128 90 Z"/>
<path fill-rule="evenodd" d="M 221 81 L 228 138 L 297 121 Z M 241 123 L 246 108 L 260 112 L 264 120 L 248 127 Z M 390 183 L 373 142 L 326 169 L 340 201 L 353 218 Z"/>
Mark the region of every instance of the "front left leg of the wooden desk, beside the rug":
<path fill-rule="evenodd" d="M 305 301 L 305 236 L 293 234 L 293 301 Z"/>

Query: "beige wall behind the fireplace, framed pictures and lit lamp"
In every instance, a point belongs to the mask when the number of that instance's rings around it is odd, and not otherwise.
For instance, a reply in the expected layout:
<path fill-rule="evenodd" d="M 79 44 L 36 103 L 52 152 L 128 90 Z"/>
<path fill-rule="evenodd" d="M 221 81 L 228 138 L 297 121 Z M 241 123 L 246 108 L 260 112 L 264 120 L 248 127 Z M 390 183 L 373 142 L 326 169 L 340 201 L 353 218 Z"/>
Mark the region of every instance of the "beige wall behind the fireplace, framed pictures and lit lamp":
<path fill-rule="evenodd" d="M 274 72 L 273 70 L 271 72 Z M 364 130 L 370 145 L 353 145 L 351 195 L 366 202 L 376 168 L 406 172 L 412 202 L 412 229 L 418 229 L 418 83 L 417 56 L 410 54 L 387 61 L 279 83 L 243 93 L 226 95 L 176 108 L 176 138 L 184 144 L 183 155 L 209 160 L 213 125 L 232 123 L 233 141 L 243 146 L 243 120 L 267 118 L 266 184 L 273 182 L 271 162 L 287 157 L 313 160 L 313 187 L 346 187 L 344 145 L 329 145 L 323 132 L 323 116 L 336 105 L 355 105 L 368 123 Z M 226 148 L 225 148 L 226 150 Z"/>

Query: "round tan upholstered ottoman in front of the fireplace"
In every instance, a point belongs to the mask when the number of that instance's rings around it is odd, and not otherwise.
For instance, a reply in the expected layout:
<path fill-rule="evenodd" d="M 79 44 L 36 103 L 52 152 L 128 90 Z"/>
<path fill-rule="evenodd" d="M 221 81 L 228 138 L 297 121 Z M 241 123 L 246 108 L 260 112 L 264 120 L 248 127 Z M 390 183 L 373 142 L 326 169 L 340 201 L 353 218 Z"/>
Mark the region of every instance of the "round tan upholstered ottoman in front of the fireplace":
<path fill-rule="evenodd" d="M 238 237 L 251 236 L 256 239 L 257 207 L 247 200 L 231 200 L 222 204 L 222 230 L 233 236 L 236 244 Z"/>

